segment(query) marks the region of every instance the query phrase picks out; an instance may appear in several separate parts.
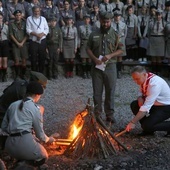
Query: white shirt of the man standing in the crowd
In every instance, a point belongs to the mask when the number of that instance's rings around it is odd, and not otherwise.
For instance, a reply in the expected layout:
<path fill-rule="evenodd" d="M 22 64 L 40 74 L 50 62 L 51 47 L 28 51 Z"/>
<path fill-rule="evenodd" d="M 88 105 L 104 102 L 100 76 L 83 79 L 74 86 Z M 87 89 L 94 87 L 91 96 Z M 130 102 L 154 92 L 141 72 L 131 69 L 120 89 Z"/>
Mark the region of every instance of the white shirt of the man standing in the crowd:
<path fill-rule="evenodd" d="M 30 35 L 30 33 L 31 32 L 35 32 L 37 34 L 44 33 L 45 35 L 47 35 L 49 33 L 49 27 L 47 24 L 47 20 L 42 16 L 40 16 L 38 18 L 29 16 L 27 18 L 27 22 L 26 22 L 26 31 L 29 35 L 29 38 L 32 41 L 36 41 L 36 42 L 40 43 L 41 40 L 46 38 L 46 36 L 43 36 L 40 41 L 37 41 L 37 37 Z"/>

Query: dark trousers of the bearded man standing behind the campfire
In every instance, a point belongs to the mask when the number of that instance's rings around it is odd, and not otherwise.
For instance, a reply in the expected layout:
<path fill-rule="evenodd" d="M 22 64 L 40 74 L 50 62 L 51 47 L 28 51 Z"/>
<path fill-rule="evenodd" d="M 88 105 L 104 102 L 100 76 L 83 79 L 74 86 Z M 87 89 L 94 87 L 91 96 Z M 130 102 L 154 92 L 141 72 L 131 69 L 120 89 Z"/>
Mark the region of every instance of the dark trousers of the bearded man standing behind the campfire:
<path fill-rule="evenodd" d="M 103 111 L 103 92 L 105 88 L 104 111 L 107 118 L 112 118 L 114 114 L 114 94 L 116 87 L 116 63 L 107 64 L 105 71 L 92 66 L 92 84 L 95 113 L 101 114 Z"/>

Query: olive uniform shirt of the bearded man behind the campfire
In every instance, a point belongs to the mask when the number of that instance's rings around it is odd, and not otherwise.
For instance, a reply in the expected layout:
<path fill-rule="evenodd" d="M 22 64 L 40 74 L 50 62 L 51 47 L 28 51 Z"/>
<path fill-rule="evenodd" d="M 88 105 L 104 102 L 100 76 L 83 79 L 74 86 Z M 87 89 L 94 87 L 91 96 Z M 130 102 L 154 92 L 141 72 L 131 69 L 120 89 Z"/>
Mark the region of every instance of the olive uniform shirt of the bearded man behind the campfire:
<path fill-rule="evenodd" d="M 118 35 L 113 28 L 110 28 L 107 33 L 101 33 L 100 29 L 90 34 L 88 48 L 93 51 L 95 57 L 99 58 L 100 55 L 107 55 L 113 53 L 115 50 L 123 50 L 123 44 L 120 42 Z M 108 63 L 115 63 L 116 58 L 111 58 Z"/>

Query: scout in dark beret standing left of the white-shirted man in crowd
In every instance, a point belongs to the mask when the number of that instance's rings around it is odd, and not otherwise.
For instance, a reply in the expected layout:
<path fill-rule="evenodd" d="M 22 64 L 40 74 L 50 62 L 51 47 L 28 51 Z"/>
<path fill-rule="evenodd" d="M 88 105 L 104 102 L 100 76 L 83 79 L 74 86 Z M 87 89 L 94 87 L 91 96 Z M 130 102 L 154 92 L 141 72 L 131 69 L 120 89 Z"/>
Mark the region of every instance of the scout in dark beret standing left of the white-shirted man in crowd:
<path fill-rule="evenodd" d="M 20 58 L 21 58 L 21 68 L 22 68 L 22 78 L 24 78 L 26 73 L 26 59 L 28 58 L 28 50 L 26 45 L 27 34 L 26 34 L 26 22 L 22 20 L 22 12 L 16 10 L 13 14 L 15 16 L 14 22 L 9 25 L 9 35 L 12 39 L 12 51 L 15 62 L 15 74 L 16 78 L 19 76 L 20 72 Z"/>

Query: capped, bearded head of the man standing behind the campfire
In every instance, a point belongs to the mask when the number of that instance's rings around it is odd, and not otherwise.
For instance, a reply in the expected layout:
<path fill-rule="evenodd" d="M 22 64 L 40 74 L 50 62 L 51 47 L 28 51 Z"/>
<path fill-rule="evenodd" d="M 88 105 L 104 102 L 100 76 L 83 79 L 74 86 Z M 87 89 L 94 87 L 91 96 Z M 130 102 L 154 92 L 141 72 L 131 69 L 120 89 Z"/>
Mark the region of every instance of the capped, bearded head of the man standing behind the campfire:
<path fill-rule="evenodd" d="M 110 29 L 112 18 L 113 18 L 113 16 L 111 13 L 100 14 L 101 31 L 103 33 L 107 33 L 107 31 Z"/>

